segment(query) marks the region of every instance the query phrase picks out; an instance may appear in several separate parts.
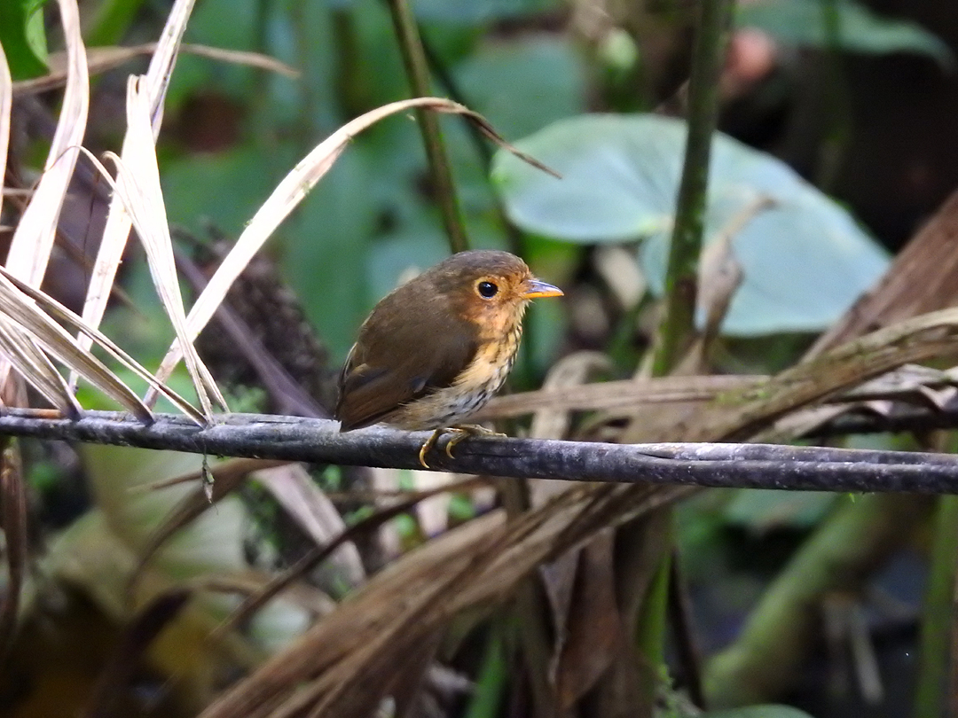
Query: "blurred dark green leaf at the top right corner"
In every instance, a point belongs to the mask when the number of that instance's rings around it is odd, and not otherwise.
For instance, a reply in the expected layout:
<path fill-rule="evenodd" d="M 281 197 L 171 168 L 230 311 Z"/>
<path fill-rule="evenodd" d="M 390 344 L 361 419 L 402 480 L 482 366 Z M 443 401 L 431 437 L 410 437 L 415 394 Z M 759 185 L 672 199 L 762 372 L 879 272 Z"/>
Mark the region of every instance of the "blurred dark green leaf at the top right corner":
<path fill-rule="evenodd" d="M 759 28 L 788 44 L 828 47 L 827 9 L 823 0 L 757 0 L 740 4 L 736 24 Z M 852 0 L 836 0 L 834 12 L 834 41 L 842 50 L 876 55 L 917 53 L 954 65 L 947 44 L 917 23 L 882 17 Z"/>

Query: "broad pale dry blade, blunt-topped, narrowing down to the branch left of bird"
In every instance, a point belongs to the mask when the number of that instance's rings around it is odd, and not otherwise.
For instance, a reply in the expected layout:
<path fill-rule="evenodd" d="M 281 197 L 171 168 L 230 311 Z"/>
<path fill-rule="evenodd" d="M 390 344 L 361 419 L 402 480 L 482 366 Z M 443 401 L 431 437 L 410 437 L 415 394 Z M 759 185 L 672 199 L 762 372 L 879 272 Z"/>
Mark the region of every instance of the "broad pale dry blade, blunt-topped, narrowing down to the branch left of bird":
<path fill-rule="evenodd" d="M 115 158 L 118 168 L 116 188 L 147 251 L 150 276 L 170 317 L 179 346 L 186 348 L 187 370 L 193 379 L 203 414 L 212 420 L 213 402 L 225 408 L 226 399 L 196 353 L 193 345 L 195 337 L 188 335 L 186 310 L 176 276 L 170 226 L 160 188 L 149 111 L 145 79 L 130 78 L 126 88 L 126 136 L 129 143 L 125 146 L 125 161 Z M 158 379 L 158 382 L 162 381 Z"/>

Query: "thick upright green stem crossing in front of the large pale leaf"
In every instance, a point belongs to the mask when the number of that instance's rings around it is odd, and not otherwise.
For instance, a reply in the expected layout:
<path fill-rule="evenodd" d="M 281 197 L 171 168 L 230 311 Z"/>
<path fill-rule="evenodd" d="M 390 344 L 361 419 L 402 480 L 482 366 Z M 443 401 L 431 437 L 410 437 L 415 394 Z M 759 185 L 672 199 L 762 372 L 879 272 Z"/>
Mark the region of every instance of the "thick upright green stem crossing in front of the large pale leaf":
<path fill-rule="evenodd" d="M 666 274 L 665 316 L 659 326 L 652 373 L 669 373 L 694 329 L 696 275 L 702 246 L 709 156 L 719 104 L 719 75 L 734 0 L 701 0 L 689 77 L 689 134 L 675 207 Z"/>

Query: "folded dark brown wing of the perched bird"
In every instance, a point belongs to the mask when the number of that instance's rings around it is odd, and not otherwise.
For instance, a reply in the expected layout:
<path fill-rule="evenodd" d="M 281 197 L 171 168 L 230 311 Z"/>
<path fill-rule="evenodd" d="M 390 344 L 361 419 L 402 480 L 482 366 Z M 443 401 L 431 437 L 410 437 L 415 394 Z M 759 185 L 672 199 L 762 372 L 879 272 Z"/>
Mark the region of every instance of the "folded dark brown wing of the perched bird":
<path fill-rule="evenodd" d="M 374 314 L 360 330 L 339 380 L 340 431 L 388 420 L 403 404 L 451 386 L 475 356 L 475 333 L 465 323 L 404 319 L 387 323 Z"/>

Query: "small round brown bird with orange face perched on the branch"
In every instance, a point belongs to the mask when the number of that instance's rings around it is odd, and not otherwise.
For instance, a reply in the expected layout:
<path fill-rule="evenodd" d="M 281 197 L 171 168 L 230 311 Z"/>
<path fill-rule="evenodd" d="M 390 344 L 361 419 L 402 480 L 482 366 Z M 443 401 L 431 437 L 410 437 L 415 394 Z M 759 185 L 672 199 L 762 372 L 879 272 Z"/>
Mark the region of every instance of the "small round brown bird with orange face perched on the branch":
<path fill-rule="evenodd" d="M 336 418 L 348 432 L 376 423 L 433 429 L 419 459 L 445 433 L 452 448 L 493 434 L 460 422 L 496 393 L 513 368 L 522 315 L 562 291 L 536 280 L 508 252 L 460 252 L 386 295 L 359 328 L 339 379 Z"/>

